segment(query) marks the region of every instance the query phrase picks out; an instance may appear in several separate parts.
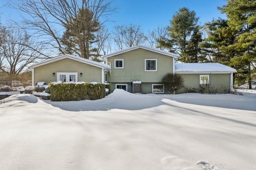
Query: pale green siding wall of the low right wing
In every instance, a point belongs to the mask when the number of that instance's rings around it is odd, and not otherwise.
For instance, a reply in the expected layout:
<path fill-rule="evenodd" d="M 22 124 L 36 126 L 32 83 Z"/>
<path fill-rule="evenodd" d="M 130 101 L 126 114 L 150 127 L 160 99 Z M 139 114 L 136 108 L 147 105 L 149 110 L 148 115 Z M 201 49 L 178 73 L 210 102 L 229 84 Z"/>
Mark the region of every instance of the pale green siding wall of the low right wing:
<path fill-rule="evenodd" d="M 202 73 L 204 74 L 204 73 Z M 209 74 L 209 73 L 205 73 Z M 187 88 L 199 89 L 199 75 L 201 74 L 180 74 L 184 80 L 185 88 L 178 93 L 187 92 Z M 217 90 L 217 93 L 228 93 L 230 89 L 230 74 L 209 74 L 210 86 Z"/>

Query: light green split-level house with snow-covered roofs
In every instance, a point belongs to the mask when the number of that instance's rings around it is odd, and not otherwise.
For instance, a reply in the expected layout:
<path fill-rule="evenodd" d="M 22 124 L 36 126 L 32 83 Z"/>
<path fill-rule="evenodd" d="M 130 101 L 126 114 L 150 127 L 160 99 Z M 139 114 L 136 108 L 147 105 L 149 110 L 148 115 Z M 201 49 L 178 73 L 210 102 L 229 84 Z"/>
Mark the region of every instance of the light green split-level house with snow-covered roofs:
<path fill-rule="evenodd" d="M 210 84 L 215 92 L 227 93 L 233 86 L 235 69 L 219 63 L 176 63 L 177 54 L 135 46 L 103 56 L 105 63 L 94 62 L 73 55 L 60 55 L 31 65 L 33 84 L 38 81 L 106 82 L 111 91 L 164 93 L 162 77 L 178 73 L 185 87 L 178 92 Z"/>

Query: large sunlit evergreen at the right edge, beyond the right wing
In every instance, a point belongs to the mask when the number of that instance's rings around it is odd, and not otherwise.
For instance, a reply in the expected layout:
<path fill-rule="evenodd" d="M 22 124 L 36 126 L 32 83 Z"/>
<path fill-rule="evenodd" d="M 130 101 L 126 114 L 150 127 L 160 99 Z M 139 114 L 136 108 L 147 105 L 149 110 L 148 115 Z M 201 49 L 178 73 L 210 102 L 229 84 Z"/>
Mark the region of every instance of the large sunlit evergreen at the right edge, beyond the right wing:
<path fill-rule="evenodd" d="M 227 14 L 228 25 L 239 32 L 234 45 L 239 55 L 231 59 L 231 63 L 239 68 L 239 77 L 246 75 L 249 88 L 255 78 L 256 63 L 256 1 L 228 0 L 227 5 L 220 8 Z"/>

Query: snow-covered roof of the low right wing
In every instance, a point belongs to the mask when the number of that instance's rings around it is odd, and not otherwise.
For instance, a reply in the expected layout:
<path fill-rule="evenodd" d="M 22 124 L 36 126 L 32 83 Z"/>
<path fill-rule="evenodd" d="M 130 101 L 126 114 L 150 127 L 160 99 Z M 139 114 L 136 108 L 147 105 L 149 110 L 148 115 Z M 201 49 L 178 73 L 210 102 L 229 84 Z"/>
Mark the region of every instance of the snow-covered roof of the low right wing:
<path fill-rule="evenodd" d="M 177 73 L 195 73 L 195 72 L 233 73 L 233 72 L 236 72 L 236 70 L 220 63 L 176 63 L 175 72 Z"/>

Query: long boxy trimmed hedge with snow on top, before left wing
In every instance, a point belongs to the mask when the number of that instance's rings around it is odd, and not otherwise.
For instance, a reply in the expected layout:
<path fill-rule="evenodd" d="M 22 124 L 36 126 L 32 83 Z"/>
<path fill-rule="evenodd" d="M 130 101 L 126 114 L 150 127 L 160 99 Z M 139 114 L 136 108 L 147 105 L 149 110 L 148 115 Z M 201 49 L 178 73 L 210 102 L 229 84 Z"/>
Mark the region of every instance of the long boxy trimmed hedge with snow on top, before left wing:
<path fill-rule="evenodd" d="M 52 101 L 97 100 L 105 97 L 105 84 L 60 83 L 51 84 Z"/>

